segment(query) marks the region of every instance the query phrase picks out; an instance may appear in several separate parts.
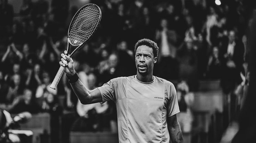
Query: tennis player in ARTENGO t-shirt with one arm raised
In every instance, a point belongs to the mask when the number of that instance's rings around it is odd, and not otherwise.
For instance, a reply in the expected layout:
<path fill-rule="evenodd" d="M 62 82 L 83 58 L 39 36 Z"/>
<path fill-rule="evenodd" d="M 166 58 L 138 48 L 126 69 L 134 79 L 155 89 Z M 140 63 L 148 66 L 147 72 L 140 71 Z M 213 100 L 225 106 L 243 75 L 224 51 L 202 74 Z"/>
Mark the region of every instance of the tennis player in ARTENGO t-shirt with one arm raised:
<path fill-rule="evenodd" d="M 61 54 L 59 62 L 67 68 L 65 73 L 82 104 L 104 103 L 113 100 L 117 108 L 119 142 L 129 143 L 183 143 L 176 90 L 171 82 L 153 76 L 158 46 L 149 39 L 135 45 L 137 75 L 118 77 L 102 87 L 88 90 L 73 67 L 73 60 Z M 68 62 L 67 62 L 67 61 Z"/>

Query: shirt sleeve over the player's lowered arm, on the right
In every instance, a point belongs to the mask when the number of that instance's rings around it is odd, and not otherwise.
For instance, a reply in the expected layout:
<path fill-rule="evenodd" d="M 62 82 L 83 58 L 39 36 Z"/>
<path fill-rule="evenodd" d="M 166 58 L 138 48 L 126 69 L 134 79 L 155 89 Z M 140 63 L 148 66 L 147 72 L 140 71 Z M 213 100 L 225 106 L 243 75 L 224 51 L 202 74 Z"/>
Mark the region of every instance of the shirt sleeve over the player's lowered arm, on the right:
<path fill-rule="evenodd" d="M 170 87 L 169 93 L 170 93 L 170 98 L 167 103 L 167 116 L 171 117 L 171 116 L 179 113 L 177 93 L 176 93 L 176 89 L 173 84 Z"/>

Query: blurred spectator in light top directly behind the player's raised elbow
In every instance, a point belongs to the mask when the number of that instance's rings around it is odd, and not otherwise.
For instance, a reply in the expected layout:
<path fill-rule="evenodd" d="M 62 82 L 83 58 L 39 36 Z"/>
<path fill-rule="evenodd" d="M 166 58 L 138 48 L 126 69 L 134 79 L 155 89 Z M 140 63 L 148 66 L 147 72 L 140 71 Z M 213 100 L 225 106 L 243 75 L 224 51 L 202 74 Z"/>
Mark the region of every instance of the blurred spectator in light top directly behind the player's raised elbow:
<path fill-rule="evenodd" d="M 96 76 L 93 73 L 88 75 L 88 88 L 95 89 Z M 88 104 L 84 105 L 80 101 L 77 103 L 77 113 L 80 116 L 74 121 L 72 131 L 98 131 L 104 127 L 104 113 L 108 109 L 108 104 Z"/>

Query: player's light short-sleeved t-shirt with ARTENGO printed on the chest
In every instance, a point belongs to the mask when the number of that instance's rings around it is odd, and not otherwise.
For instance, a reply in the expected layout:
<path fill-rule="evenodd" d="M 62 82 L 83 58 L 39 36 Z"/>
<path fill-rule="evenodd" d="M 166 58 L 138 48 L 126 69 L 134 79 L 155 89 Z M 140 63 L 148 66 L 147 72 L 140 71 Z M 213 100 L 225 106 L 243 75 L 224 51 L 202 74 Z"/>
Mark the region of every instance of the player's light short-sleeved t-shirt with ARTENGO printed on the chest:
<path fill-rule="evenodd" d="M 98 89 L 103 102 L 116 103 L 120 143 L 169 143 L 166 118 L 179 112 L 171 82 L 154 76 L 143 83 L 133 75 L 114 78 Z"/>

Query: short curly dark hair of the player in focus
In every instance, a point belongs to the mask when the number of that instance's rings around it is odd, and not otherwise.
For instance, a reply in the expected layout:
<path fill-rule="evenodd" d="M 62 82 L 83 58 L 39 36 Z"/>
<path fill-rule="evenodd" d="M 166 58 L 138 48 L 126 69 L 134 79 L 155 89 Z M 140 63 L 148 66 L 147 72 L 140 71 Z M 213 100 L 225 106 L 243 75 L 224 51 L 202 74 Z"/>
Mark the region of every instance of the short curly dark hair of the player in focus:
<path fill-rule="evenodd" d="M 151 47 L 151 48 L 153 49 L 154 57 L 158 57 L 159 47 L 157 46 L 157 44 L 156 44 L 154 41 L 152 41 L 152 40 L 150 40 L 150 39 L 146 39 L 146 38 L 140 39 L 140 40 L 135 44 L 135 49 L 134 49 L 135 53 L 136 53 L 138 47 L 141 46 L 141 45 L 146 45 L 146 46 Z"/>

